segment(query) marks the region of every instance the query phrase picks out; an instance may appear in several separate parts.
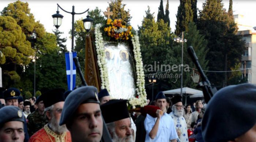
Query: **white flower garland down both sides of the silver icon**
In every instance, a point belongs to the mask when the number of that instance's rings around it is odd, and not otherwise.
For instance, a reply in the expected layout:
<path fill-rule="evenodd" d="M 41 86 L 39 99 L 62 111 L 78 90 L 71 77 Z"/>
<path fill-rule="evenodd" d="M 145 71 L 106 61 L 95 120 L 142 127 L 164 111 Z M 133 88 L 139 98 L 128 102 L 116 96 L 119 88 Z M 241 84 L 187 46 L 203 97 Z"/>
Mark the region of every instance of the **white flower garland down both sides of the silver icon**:
<path fill-rule="evenodd" d="M 109 79 L 108 79 L 108 70 L 105 63 L 105 54 L 104 54 L 104 45 L 103 45 L 103 38 L 100 28 L 102 24 L 95 25 L 95 46 L 97 51 L 97 59 L 98 59 L 98 66 L 101 72 L 101 89 L 106 88 L 109 90 Z M 138 94 L 138 98 L 130 98 L 129 104 L 132 105 L 132 108 L 135 109 L 136 106 L 144 107 L 147 105 L 147 94 L 145 90 L 145 76 L 143 71 L 143 63 L 142 63 L 142 56 L 140 53 L 140 43 L 139 37 L 134 35 L 132 37 L 132 45 L 133 45 L 133 53 L 134 58 L 136 61 L 136 92 Z"/>

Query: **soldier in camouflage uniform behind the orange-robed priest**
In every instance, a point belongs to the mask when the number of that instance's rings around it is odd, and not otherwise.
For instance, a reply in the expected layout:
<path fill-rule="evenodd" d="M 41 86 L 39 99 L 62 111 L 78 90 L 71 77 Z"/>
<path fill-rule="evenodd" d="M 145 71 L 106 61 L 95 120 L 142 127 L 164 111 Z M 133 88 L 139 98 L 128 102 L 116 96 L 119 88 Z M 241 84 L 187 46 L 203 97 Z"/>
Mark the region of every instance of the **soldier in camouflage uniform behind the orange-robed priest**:
<path fill-rule="evenodd" d="M 33 135 L 48 123 L 44 115 L 45 106 L 42 96 L 37 97 L 35 104 L 38 106 L 37 110 L 27 116 L 27 130 L 29 131 L 29 136 Z"/>

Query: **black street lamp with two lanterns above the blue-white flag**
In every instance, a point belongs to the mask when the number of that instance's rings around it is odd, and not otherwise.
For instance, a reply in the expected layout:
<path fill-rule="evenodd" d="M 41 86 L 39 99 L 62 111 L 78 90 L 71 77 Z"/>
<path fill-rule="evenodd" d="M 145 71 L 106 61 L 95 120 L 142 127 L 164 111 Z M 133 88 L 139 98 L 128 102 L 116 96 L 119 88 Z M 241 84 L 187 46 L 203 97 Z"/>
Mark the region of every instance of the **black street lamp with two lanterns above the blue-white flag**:
<path fill-rule="evenodd" d="M 61 15 L 59 13 L 59 7 L 60 5 L 57 4 L 58 7 L 57 7 L 57 13 L 56 14 L 53 14 L 52 15 L 52 18 L 53 18 L 53 24 L 56 28 L 59 28 L 61 23 L 62 23 L 62 18 L 64 17 L 63 15 Z M 68 11 L 65 11 L 63 8 L 60 7 L 60 9 L 62 9 L 64 12 L 67 12 L 67 13 L 70 13 L 72 14 L 72 32 L 71 32 L 71 35 L 72 35 L 72 46 L 71 46 L 71 51 L 74 50 L 74 23 L 75 23 L 75 20 L 74 20 L 74 17 L 75 17 L 75 14 L 83 14 L 85 12 L 88 12 L 89 9 L 87 9 L 86 11 L 82 12 L 82 13 L 76 13 L 75 12 L 75 6 L 73 5 L 72 6 L 72 12 L 68 12 Z M 83 19 L 83 25 L 84 25 L 84 29 L 89 32 L 92 25 L 93 25 L 93 19 L 90 18 L 89 16 L 89 13 L 87 14 L 87 18 L 86 19 Z"/>

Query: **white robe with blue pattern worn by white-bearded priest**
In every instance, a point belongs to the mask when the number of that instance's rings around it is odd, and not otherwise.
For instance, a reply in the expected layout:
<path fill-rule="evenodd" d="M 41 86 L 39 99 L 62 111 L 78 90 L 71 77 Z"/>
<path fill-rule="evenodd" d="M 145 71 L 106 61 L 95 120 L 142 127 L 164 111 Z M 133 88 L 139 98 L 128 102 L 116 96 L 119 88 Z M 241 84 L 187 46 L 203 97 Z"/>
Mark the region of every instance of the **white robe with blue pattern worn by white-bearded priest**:
<path fill-rule="evenodd" d="M 180 138 L 177 139 L 177 142 L 188 142 L 188 129 L 187 129 L 187 123 L 184 117 L 178 117 L 177 115 L 174 115 L 174 113 L 169 114 L 174 122 L 175 129 L 181 130 Z"/>

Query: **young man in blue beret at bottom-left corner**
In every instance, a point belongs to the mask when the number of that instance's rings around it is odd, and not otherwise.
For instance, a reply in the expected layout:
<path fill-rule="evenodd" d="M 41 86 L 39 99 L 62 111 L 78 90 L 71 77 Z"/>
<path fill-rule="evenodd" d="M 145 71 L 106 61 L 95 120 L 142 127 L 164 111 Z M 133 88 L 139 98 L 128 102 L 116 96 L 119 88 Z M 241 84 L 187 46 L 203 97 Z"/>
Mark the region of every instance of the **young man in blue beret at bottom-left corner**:
<path fill-rule="evenodd" d="M 0 109 L 0 141 L 1 142 L 23 142 L 24 115 L 16 106 L 5 106 Z"/>

